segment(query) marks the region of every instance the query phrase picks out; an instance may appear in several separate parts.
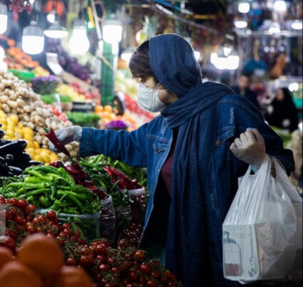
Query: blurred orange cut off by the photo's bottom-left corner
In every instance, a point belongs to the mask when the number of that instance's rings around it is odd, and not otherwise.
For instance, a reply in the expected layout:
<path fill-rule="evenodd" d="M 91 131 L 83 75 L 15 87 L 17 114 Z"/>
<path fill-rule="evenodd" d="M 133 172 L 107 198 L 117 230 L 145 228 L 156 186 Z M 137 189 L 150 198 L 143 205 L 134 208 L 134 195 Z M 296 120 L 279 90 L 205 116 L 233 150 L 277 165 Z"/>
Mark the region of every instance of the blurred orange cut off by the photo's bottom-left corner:
<path fill-rule="evenodd" d="M 1 287 L 42 287 L 42 279 L 18 261 L 6 263 L 0 270 Z"/>

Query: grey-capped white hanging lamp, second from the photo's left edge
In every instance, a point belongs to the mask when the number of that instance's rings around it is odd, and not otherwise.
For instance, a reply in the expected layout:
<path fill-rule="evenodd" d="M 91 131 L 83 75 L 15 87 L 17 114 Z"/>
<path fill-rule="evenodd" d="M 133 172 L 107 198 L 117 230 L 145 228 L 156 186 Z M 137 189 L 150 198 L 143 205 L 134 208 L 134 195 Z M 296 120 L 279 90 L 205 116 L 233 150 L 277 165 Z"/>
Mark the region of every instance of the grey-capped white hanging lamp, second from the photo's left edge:
<path fill-rule="evenodd" d="M 22 33 L 22 50 L 25 53 L 36 55 L 43 51 L 44 36 L 43 30 L 36 21 L 32 20 L 29 26 L 23 29 Z"/>

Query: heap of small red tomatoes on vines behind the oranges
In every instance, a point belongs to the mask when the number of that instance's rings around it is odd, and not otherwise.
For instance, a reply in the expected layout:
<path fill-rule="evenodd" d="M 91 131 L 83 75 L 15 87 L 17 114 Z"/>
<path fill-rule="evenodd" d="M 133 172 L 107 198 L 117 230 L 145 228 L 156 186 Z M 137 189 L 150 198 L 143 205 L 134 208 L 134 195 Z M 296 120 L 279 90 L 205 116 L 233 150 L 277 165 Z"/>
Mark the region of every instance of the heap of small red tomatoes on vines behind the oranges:
<path fill-rule="evenodd" d="M 4 204 L 4 205 L 3 205 Z M 107 239 L 87 241 L 71 224 L 60 224 L 56 212 L 36 212 L 25 199 L 4 199 L 0 196 L 0 246 L 16 254 L 26 236 L 42 232 L 56 239 L 63 251 L 66 266 L 81 266 L 91 276 L 92 287 L 165 287 L 182 286 L 173 273 L 157 259 L 150 259 L 137 249 L 142 226 L 130 224 L 120 236 L 118 246 Z M 5 219 L 5 221 L 1 221 Z"/>

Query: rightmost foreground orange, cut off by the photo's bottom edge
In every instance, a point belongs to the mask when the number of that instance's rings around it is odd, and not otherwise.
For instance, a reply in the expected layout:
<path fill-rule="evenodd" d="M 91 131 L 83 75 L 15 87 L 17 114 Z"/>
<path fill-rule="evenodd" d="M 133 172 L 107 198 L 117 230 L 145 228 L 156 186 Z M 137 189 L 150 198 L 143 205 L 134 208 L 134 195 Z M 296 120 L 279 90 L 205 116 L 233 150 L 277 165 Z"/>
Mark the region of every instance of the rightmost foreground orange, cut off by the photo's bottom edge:
<path fill-rule="evenodd" d="M 64 266 L 59 273 L 56 274 L 53 287 L 91 287 L 91 285 L 91 278 L 83 268 Z"/>

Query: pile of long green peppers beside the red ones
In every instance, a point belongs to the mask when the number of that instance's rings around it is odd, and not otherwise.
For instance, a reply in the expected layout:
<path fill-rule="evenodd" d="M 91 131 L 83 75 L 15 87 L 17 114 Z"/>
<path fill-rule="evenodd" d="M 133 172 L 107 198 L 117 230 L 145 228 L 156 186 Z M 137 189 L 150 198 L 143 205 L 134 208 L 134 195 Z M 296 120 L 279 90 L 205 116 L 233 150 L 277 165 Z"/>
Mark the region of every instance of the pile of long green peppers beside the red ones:
<path fill-rule="evenodd" d="M 2 179 L 0 194 L 9 199 L 26 199 L 37 209 L 53 209 L 64 214 L 95 214 L 100 199 L 90 189 L 76 184 L 63 167 L 33 166 L 20 177 Z"/>

